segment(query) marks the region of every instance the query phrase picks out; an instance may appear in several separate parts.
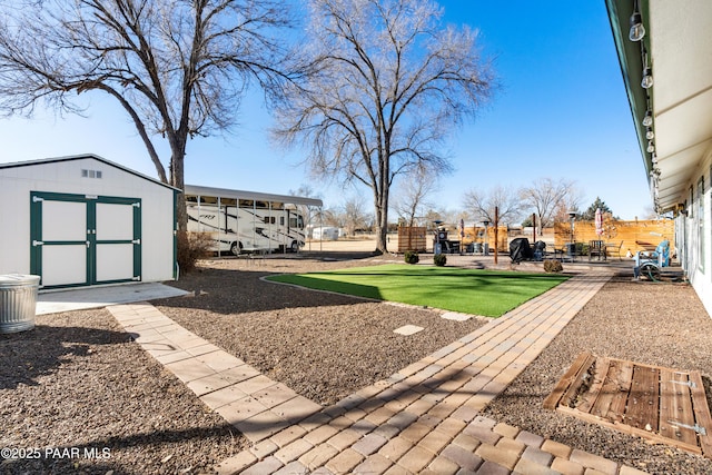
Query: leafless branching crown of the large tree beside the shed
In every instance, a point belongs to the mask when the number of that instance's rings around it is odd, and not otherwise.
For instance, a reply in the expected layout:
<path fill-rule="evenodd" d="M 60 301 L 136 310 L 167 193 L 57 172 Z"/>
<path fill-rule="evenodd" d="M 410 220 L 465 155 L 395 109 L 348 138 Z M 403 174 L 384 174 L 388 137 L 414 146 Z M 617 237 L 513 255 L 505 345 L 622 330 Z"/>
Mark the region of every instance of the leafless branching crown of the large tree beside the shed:
<path fill-rule="evenodd" d="M 160 180 L 180 189 L 188 138 L 229 129 L 250 82 L 269 92 L 286 79 L 273 37 L 287 24 L 280 1 L 9 3 L 0 7 L 0 110 L 31 116 L 44 102 L 81 113 L 81 93 L 106 93 L 136 126 Z M 177 211 L 185 230 L 185 204 Z"/>

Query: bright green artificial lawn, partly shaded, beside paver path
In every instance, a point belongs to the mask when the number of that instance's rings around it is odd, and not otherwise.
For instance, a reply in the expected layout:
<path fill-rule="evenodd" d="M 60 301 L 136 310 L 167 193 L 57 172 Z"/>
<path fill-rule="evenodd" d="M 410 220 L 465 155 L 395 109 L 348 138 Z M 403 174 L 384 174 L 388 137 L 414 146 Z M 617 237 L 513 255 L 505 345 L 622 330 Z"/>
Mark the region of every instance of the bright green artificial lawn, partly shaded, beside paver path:
<path fill-rule="evenodd" d="M 270 276 L 268 280 L 500 317 L 567 278 L 552 274 L 388 264 L 324 273 L 284 274 Z"/>

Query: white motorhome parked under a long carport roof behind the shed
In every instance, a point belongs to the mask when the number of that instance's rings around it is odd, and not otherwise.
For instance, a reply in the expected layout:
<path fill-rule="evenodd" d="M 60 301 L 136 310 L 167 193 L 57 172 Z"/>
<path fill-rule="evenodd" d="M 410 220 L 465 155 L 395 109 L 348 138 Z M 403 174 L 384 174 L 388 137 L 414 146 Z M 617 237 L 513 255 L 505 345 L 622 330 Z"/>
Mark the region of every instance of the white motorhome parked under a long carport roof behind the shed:
<path fill-rule="evenodd" d="M 301 206 L 322 200 L 186 186 L 188 231 L 208 234 L 216 253 L 298 251 L 305 244 Z"/>

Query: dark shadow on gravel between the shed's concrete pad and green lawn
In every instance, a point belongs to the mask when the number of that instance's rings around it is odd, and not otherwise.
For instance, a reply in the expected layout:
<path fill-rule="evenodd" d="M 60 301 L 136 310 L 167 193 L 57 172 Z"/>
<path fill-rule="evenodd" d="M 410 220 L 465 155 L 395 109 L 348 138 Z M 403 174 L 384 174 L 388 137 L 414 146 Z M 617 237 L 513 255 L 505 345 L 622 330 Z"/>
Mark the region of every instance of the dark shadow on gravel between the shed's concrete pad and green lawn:
<path fill-rule="evenodd" d="M 284 308 L 354 305 L 358 297 L 319 293 L 261 280 L 281 274 L 268 270 L 207 268 L 167 283 L 189 296 L 152 300 L 157 307 L 194 308 L 218 314 L 280 310 Z M 318 297 L 315 298 L 315 295 Z M 362 300 L 363 301 L 363 300 Z"/>

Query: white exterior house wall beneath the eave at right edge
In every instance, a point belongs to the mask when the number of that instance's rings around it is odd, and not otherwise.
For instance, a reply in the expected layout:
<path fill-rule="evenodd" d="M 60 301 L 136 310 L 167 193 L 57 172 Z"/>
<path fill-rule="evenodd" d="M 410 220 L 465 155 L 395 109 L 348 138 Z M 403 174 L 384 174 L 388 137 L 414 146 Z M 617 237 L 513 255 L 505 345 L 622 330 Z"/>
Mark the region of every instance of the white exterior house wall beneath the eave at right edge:
<path fill-rule="evenodd" d="M 675 220 L 679 239 L 680 261 L 700 296 L 702 304 L 712 316 L 712 159 L 695 170 L 688 182 L 684 214 Z"/>

